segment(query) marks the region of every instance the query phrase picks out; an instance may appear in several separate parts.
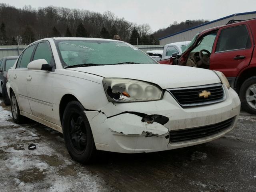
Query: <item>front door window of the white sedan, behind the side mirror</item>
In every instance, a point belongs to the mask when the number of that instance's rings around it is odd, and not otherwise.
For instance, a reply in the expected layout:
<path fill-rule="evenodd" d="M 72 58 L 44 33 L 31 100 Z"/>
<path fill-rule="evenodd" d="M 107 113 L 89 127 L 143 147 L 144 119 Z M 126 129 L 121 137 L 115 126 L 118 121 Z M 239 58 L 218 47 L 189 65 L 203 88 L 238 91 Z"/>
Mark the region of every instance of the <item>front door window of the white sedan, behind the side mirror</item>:
<path fill-rule="evenodd" d="M 52 50 L 50 48 L 50 45 L 47 42 L 39 43 L 38 46 L 36 47 L 33 60 L 37 60 L 37 59 L 45 59 L 48 62 L 48 64 L 51 65 Z"/>

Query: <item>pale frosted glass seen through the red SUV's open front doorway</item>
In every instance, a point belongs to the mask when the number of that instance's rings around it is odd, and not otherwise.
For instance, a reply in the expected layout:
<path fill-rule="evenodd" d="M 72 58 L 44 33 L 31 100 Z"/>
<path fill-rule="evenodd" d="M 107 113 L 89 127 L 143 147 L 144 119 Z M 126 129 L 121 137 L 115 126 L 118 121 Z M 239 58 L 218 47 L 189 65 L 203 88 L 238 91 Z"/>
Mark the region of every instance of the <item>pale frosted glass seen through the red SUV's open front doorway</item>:
<path fill-rule="evenodd" d="M 214 40 L 216 38 L 217 32 L 213 32 L 204 36 L 197 44 L 196 48 L 192 52 L 199 52 L 202 49 L 208 50 L 210 53 L 212 52 L 212 46 L 214 44 Z"/>

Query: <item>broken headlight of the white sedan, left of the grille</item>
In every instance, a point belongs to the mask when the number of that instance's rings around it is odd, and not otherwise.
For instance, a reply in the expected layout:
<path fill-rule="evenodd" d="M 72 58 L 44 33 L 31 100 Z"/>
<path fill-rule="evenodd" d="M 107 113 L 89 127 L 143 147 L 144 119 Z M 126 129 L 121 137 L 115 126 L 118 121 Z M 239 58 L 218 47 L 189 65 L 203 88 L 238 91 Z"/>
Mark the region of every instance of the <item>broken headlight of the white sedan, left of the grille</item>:
<path fill-rule="evenodd" d="M 162 98 L 162 90 L 158 86 L 143 81 L 104 78 L 103 86 L 110 102 L 140 102 Z"/>

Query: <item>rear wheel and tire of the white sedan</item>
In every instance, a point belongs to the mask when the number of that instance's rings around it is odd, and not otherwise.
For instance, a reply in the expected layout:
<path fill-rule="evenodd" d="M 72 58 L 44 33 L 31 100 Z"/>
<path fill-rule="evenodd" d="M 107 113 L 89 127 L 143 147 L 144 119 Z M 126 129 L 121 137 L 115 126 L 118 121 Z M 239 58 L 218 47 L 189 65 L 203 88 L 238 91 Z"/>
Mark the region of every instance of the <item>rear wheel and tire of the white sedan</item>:
<path fill-rule="evenodd" d="M 20 108 L 14 92 L 12 92 L 11 94 L 11 111 L 12 111 L 12 119 L 15 123 L 17 124 L 24 123 L 25 117 L 20 114 Z"/>

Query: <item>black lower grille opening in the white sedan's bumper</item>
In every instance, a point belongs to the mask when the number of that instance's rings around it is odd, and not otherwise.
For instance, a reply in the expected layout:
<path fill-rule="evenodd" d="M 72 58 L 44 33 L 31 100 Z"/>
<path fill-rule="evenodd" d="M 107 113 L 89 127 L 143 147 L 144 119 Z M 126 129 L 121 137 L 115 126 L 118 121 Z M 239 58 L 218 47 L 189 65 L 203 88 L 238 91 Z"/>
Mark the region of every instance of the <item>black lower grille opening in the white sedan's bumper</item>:
<path fill-rule="evenodd" d="M 235 117 L 216 123 L 216 124 L 207 125 L 207 126 L 170 131 L 169 132 L 170 142 L 175 143 L 175 142 L 190 141 L 193 139 L 203 138 L 213 134 L 220 133 L 230 128 L 230 126 L 233 125 L 234 120 L 235 120 Z"/>

